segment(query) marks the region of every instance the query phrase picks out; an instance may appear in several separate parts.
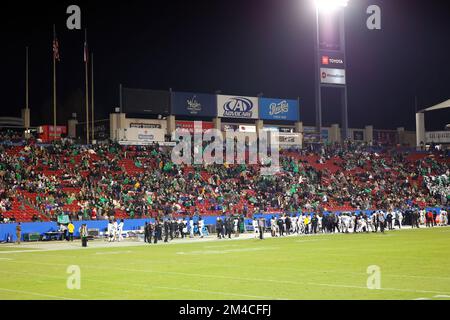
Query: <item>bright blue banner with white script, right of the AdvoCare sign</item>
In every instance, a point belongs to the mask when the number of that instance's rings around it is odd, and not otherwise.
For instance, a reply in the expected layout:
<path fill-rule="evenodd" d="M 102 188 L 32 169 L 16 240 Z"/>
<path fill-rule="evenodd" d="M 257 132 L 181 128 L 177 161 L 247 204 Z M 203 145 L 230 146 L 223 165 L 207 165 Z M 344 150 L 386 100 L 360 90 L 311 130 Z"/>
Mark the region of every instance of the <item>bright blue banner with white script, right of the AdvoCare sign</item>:
<path fill-rule="evenodd" d="M 299 105 L 297 100 L 259 99 L 259 117 L 263 120 L 299 120 Z"/>

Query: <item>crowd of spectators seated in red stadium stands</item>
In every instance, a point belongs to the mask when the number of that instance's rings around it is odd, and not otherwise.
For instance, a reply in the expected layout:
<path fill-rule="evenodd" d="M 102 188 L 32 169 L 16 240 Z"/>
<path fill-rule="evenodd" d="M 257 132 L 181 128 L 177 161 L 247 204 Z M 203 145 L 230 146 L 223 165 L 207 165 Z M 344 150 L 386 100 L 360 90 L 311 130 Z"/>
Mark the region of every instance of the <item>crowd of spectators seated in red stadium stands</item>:
<path fill-rule="evenodd" d="M 446 206 L 450 171 L 443 153 L 373 150 L 346 143 L 283 150 L 279 173 L 260 165 L 175 165 L 171 148 L 76 145 L 70 140 L 16 146 L 0 136 L 0 221 L 13 204 L 56 220 L 164 215 L 323 214 Z M 8 140 L 10 139 L 10 140 Z M 119 217 L 119 218 L 122 218 Z M 9 219 L 9 220 L 8 220 Z M 13 221 L 10 217 L 6 221 Z"/>

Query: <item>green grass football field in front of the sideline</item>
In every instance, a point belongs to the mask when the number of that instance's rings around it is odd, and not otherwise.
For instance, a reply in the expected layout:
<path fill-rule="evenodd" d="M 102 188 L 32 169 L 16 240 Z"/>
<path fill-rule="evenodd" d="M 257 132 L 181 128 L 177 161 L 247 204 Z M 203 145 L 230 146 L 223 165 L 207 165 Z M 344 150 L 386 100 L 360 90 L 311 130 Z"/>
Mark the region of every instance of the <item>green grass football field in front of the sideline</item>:
<path fill-rule="evenodd" d="M 0 246 L 0 299 L 448 299 L 449 240 L 450 228 L 434 228 L 55 251 Z M 67 288 L 69 265 L 80 267 L 80 290 Z M 381 270 L 379 290 L 367 288 L 371 265 Z"/>

